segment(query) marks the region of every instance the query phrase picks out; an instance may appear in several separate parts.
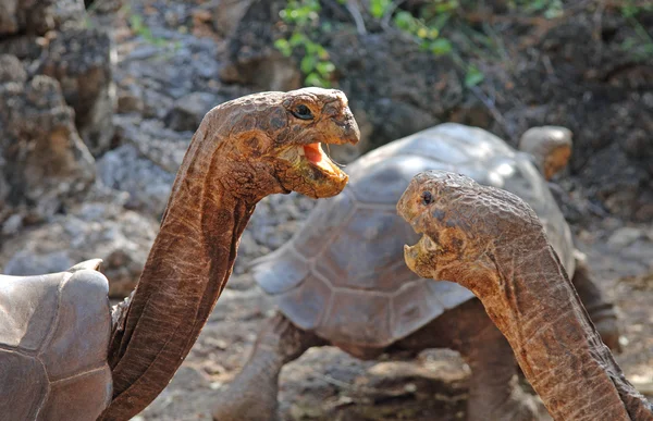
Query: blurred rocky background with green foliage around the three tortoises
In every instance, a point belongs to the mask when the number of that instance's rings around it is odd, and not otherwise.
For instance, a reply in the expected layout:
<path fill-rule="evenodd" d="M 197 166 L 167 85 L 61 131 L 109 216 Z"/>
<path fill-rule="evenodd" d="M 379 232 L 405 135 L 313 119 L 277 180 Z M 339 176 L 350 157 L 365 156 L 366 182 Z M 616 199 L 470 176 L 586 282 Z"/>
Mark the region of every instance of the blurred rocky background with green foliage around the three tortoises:
<path fill-rule="evenodd" d="M 134 287 L 186 147 L 223 101 L 344 90 L 346 164 L 442 122 L 515 146 L 574 132 L 554 181 L 592 274 L 620 307 L 629 380 L 653 396 L 653 5 L 636 0 L 0 0 L 0 272 L 104 259 Z M 273 311 L 246 271 L 315 202 L 261 202 L 234 276 L 170 386 L 137 419 L 208 419 Z M 469 369 L 447 350 L 358 361 L 311 349 L 282 372 L 287 420 L 464 417 Z M 429 413 L 431 413 L 429 416 Z"/>

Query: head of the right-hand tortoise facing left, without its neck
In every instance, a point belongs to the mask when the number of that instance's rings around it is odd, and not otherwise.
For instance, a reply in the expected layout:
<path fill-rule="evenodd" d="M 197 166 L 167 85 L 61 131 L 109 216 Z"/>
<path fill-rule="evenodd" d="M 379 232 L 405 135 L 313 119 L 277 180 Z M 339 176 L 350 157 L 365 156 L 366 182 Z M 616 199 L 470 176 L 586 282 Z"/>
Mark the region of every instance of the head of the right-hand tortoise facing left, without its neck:
<path fill-rule="evenodd" d="M 492 252 L 533 228 L 535 213 L 517 196 L 444 171 L 417 174 L 397 203 L 416 233 L 404 247 L 406 264 L 419 276 L 460 282 L 492 267 Z M 464 285 L 466 286 L 466 285 Z"/>

